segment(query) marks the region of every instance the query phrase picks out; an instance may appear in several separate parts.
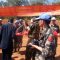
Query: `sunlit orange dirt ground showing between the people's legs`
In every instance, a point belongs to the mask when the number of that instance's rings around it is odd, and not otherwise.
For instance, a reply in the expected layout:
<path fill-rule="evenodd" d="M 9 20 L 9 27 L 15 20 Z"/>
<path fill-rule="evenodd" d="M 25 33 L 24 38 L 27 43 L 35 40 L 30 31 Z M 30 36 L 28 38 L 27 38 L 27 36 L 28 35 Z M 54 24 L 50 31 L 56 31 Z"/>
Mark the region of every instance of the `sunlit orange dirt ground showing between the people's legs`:
<path fill-rule="evenodd" d="M 58 38 L 58 47 L 57 47 L 57 54 L 56 54 L 56 60 L 60 60 L 60 41 L 59 41 L 60 37 Z M 26 49 L 26 43 L 28 41 L 27 36 L 23 37 L 23 44 L 22 44 L 22 48 L 20 49 L 20 52 L 15 52 L 12 55 L 13 60 L 25 60 L 25 49 Z M 2 58 L 2 52 L 0 49 L 0 60 Z M 28 59 L 29 60 L 29 59 Z"/>

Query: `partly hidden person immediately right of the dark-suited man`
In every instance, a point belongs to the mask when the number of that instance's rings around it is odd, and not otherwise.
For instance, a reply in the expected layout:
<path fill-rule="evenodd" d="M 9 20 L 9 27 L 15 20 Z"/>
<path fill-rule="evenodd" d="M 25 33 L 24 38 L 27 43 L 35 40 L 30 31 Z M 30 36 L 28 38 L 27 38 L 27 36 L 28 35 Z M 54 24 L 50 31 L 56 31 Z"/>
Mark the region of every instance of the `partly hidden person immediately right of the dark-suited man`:
<path fill-rule="evenodd" d="M 17 45 L 18 45 L 18 41 L 17 41 L 17 36 L 16 36 L 16 30 L 19 27 L 19 21 L 16 20 L 14 21 L 14 40 L 13 40 L 13 52 L 17 52 Z"/>

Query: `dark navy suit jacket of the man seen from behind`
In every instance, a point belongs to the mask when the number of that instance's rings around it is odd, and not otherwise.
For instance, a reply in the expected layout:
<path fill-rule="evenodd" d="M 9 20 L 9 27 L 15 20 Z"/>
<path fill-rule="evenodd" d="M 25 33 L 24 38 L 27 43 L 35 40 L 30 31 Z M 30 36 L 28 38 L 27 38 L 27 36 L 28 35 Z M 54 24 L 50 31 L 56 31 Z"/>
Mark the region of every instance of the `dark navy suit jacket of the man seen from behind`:
<path fill-rule="evenodd" d="M 12 46 L 12 33 L 13 27 L 11 24 L 5 24 L 2 26 L 2 49 L 10 48 Z"/>

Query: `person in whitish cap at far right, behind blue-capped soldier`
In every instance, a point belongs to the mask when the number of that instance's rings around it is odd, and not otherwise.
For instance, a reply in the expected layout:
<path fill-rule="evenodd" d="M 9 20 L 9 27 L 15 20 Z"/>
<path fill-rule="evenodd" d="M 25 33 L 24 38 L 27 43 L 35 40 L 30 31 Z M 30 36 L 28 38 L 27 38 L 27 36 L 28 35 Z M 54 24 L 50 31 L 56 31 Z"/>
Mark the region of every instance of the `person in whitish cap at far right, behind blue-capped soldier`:
<path fill-rule="evenodd" d="M 59 32 L 60 32 L 60 29 L 59 29 L 59 26 L 57 25 L 56 23 L 56 17 L 52 17 L 51 18 L 51 24 L 50 24 L 50 27 L 52 29 L 52 32 L 54 34 L 54 37 L 55 37 L 55 47 L 57 48 L 57 38 L 58 36 L 60 35 Z M 55 48 L 55 55 L 56 55 L 56 48 Z"/>

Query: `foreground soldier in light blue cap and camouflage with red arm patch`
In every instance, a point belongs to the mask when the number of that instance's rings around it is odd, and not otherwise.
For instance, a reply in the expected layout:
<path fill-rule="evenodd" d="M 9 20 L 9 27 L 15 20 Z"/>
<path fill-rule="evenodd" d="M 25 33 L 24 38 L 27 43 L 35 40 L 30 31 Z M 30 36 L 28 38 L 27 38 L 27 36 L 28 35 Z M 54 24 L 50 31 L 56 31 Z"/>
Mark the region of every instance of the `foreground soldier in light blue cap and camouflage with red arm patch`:
<path fill-rule="evenodd" d="M 42 27 L 42 30 L 39 33 L 39 39 L 34 39 L 35 43 L 29 43 L 30 46 L 37 49 L 35 60 L 54 60 L 52 56 L 54 54 L 54 47 L 52 44 L 52 42 L 54 42 L 54 35 L 49 27 L 51 16 L 45 13 L 41 14 L 36 19 L 39 20 L 39 26 Z"/>

